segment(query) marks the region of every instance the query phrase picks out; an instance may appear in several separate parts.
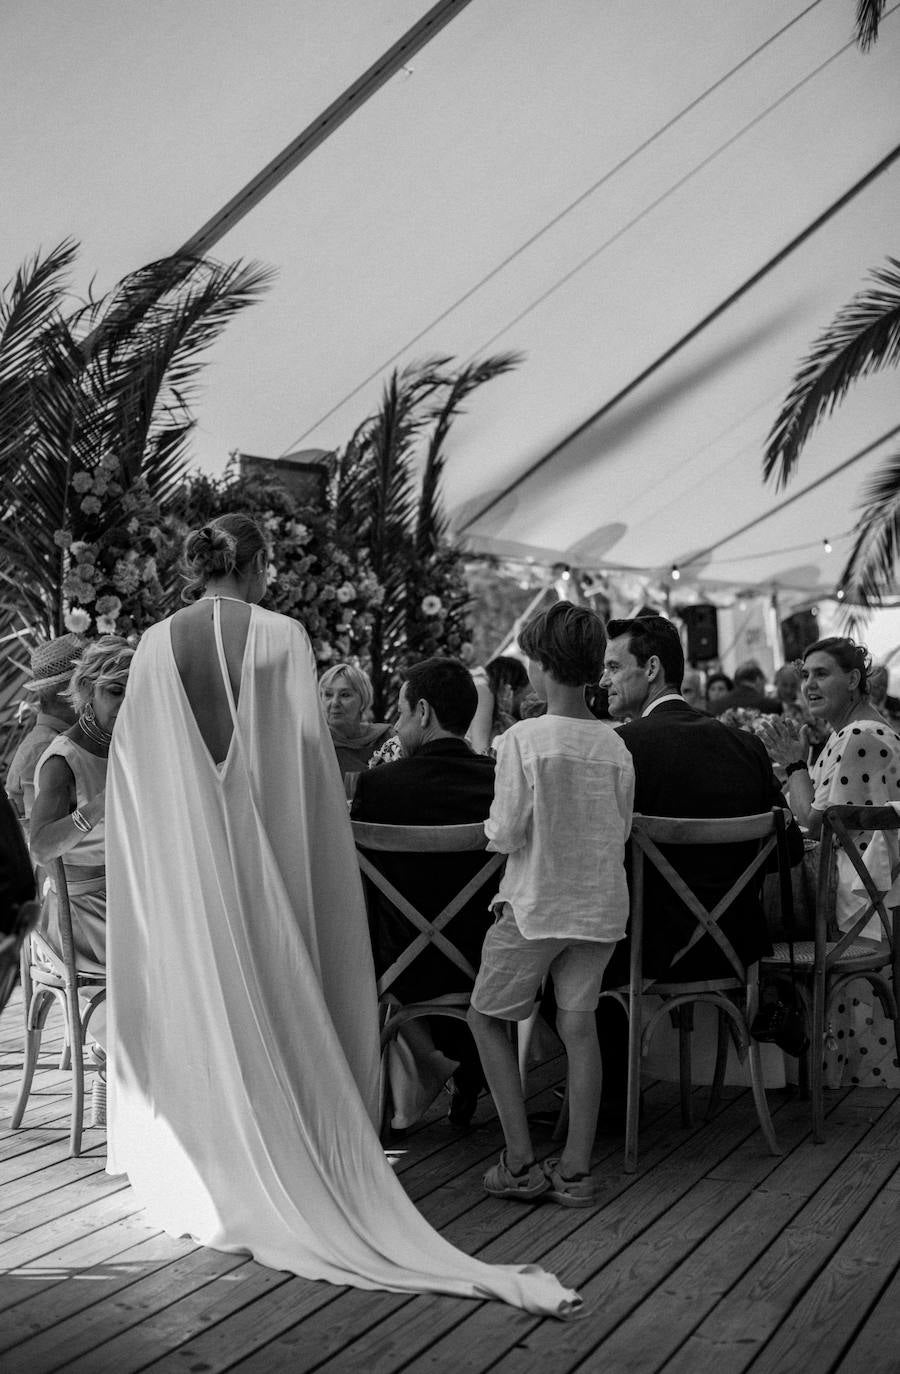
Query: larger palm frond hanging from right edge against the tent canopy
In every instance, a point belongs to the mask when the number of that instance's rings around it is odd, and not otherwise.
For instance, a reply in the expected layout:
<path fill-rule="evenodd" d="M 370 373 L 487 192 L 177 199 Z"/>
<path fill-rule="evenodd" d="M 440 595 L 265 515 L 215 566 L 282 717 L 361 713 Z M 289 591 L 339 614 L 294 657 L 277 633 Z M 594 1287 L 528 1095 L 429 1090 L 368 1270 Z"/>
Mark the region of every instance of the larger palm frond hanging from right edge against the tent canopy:
<path fill-rule="evenodd" d="M 791 475 L 811 431 L 862 376 L 900 363 L 900 261 L 871 272 L 873 286 L 835 315 L 801 361 L 768 436 L 763 473 Z"/>

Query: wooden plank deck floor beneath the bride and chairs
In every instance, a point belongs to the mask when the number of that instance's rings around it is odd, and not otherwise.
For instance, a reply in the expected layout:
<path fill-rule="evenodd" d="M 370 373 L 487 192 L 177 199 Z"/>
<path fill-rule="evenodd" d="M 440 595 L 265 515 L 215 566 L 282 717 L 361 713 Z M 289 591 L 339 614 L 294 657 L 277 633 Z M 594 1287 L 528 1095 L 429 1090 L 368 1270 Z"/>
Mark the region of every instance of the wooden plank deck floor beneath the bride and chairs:
<path fill-rule="evenodd" d="M 581 1290 L 580 1319 L 537 1320 L 499 1303 L 311 1283 L 161 1235 L 103 1172 L 100 1131 L 67 1158 L 67 1076 L 52 1054 L 27 1129 L 8 1129 L 19 1017 L 12 1004 L 0 1021 L 4 1374 L 900 1370 L 897 1092 L 833 1094 L 823 1146 L 808 1106 L 772 1094 L 775 1160 L 747 1092 L 684 1129 L 672 1087 L 653 1084 L 639 1173 L 622 1172 L 620 1136 L 598 1138 L 602 1206 L 587 1213 L 481 1193 L 499 1149 L 486 1099 L 466 1135 L 431 1121 L 397 1151 L 404 1184 L 463 1249 L 539 1261 Z M 535 1110 L 554 1105 L 559 1073 L 535 1073 Z"/>

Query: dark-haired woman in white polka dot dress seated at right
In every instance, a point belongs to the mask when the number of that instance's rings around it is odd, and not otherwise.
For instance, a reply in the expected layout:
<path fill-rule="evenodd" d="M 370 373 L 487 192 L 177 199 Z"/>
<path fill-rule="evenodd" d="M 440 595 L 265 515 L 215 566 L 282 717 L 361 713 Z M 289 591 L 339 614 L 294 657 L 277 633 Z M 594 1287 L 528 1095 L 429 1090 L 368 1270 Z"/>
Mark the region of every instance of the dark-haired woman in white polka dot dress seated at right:
<path fill-rule="evenodd" d="M 822 813 L 834 805 L 889 805 L 900 802 L 900 738 L 868 699 L 867 672 L 871 660 L 862 644 L 833 636 L 804 653 L 802 694 L 813 721 L 824 721 L 831 734 L 815 763 L 809 764 L 808 728 L 797 731 L 778 716 L 760 728 L 772 761 L 787 774 L 790 808 L 815 838 Z M 878 831 L 860 841 L 866 866 L 882 890 L 900 871 L 897 834 Z M 900 904 L 900 881 L 886 899 Z M 846 930 L 866 903 L 862 883 L 846 855 L 838 855 L 837 922 Z M 892 903 L 893 897 L 893 903 Z M 881 922 L 873 918 L 864 936 L 878 938 Z M 900 1087 L 900 1066 L 893 1025 L 884 1015 L 867 984 L 853 982 L 838 1003 L 829 1040 L 834 1062 L 833 1085 Z"/>

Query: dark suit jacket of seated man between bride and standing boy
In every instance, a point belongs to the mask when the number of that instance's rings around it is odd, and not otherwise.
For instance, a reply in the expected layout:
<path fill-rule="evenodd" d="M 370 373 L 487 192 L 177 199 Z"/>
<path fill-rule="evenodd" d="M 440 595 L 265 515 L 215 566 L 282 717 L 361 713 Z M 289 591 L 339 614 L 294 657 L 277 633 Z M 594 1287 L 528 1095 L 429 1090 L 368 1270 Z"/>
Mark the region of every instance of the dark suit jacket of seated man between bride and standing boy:
<path fill-rule="evenodd" d="M 459 826 L 486 820 L 493 800 L 493 758 L 477 754 L 464 739 L 444 738 L 425 745 L 411 758 L 370 768 L 360 775 L 353 820 L 385 826 Z M 409 901 L 433 918 L 484 866 L 484 853 L 370 853 L 381 872 Z M 500 872 L 445 927 L 448 940 L 474 969 L 492 916 L 488 903 Z M 375 971 L 381 976 L 411 944 L 415 932 L 387 899 L 371 885 L 367 892 Z M 392 987 L 401 1002 L 444 992 L 467 992 L 470 980 L 440 951 L 425 949 Z"/>

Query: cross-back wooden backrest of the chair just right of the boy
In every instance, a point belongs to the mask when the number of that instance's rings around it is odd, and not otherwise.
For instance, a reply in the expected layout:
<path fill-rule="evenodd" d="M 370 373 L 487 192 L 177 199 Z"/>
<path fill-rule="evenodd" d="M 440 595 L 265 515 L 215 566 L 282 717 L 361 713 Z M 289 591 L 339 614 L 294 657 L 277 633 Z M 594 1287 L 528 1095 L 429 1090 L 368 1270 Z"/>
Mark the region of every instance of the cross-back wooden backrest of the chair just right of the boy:
<path fill-rule="evenodd" d="M 631 886 L 631 943 L 632 965 L 640 960 L 643 941 L 643 893 L 644 893 L 644 863 L 649 861 L 672 892 L 680 897 L 697 922 L 688 941 L 672 959 L 671 978 L 666 976 L 660 981 L 677 980 L 677 962 L 694 945 L 708 934 L 719 947 L 724 958 L 734 970 L 734 977 L 743 981 L 746 967 L 736 954 L 734 945 L 720 927 L 721 916 L 734 905 L 739 894 L 749 883 L 763 881 L 765 864 L 769 855 L 779 845 L 779 831 L 785 830 L 785 813 L 780 808 L 761 812 L 754 816 L 727 816 L 716 819 L 691 819 L 682 816 L 643 816 L 635 815 L 631 830 L 632 853 L 632 886 Z M 708 908 L 691 890 L 688 883 L 673 868 L 666 856 L 660 851 L 660 845 L 735 845 L 757 842 L 757 849 L 739 874 L 735 875 L 728 890 L 719 899 L 715 907 Z M 785 860 L 786 861 L 786 860 Z"/>

